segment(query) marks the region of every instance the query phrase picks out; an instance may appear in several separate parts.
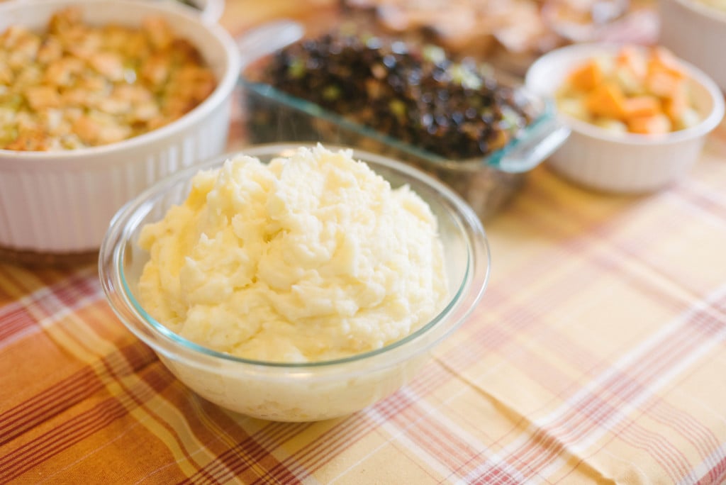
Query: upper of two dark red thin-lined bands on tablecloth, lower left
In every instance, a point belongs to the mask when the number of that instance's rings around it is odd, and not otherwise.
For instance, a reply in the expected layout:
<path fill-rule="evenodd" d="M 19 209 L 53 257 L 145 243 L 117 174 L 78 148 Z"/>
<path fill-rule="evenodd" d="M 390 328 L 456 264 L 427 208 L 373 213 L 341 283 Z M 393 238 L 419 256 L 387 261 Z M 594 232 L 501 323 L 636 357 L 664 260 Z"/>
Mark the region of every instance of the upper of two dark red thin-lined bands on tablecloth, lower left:
<path fill-rule="evenodd" d="M 104 358 L 110 362 L 117 362 L 119 359 L 126 359 L 132 373 L 155 360 L 155 355 L 146 346 L 136 343 L 118 349 Z M 97 365 L 83 367 L 70 377 L 3 412 L 0 415 L 0 445 L 15 439 L 38 423 L 64 412 L 102 389 L 110 376 L 97 367 Z"/>

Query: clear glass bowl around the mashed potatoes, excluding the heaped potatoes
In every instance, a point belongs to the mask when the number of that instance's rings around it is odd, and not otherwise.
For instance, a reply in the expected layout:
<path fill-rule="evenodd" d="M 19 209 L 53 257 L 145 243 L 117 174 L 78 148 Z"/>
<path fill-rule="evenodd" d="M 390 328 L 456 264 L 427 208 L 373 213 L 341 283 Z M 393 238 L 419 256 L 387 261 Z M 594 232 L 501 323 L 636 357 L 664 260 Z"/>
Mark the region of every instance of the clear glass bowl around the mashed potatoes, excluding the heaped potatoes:
<path fill-rule="evenodd" d="M 299 146 L 258 145 L 242 152 L 266 163 Z M 259 362 L 206 349 L 150 317 L 137 298 L 136 284 L 148 261 L 148 253 L 138 245 L 139 232 L 144 224 L 158 221 L 168 208 L 185 200 L 197 171 L 219 167 L 229 155 L 158 182 L 118 211 L 99 253 L 99 276 L 111 308 L 182 383 L 234 412 L 268 420 L 323 420 L 356 412 L 393 393 L 420 370 L 433 346 L 461 325 L 480 300 L 489 279 L 489 245 L 476 214 L 444 184 L 390 158 L 359 150 L 353 156 L 392 187 L 408 184 L 439 220 L 449 301 L 415 333 L 345 359 L 291 364 Z"/>

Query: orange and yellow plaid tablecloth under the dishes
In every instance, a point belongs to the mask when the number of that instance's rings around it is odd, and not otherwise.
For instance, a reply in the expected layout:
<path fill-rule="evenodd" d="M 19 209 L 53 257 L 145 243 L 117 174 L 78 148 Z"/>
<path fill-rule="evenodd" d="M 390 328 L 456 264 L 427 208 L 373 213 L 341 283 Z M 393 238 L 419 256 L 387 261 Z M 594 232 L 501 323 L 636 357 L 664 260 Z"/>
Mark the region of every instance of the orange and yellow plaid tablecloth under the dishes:
<path fill-rule="evenodd" d="M 653 195 L 539 167 L 486 229 L 492 280 L 468 322 L 409 386 L 320 423 L 193 394 L 93 265 L 0 264 L 0 482 L 725 481 L 726 128 Z"/>

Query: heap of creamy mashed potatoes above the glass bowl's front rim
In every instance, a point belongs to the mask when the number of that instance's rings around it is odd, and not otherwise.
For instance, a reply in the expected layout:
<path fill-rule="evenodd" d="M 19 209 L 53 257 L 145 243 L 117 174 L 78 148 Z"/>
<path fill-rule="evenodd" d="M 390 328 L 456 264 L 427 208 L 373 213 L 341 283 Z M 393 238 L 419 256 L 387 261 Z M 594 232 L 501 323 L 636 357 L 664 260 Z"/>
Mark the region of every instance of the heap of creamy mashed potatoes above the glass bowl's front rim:
<path fill-rule="evenodd" d="M 447 299 L 436 218 L 351 152 L 240 156 L 142 230 L 142 306 L 175 333 L 269 362 L 337 359 L 415 331 Z"/>

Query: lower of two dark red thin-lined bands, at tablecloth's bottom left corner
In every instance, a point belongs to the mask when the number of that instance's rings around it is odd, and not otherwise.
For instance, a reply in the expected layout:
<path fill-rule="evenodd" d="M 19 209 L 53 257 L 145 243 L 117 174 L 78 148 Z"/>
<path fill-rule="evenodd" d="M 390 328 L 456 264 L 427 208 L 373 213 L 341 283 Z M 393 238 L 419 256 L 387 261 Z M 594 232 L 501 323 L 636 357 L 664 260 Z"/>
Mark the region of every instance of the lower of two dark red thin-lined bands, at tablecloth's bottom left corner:
<path fill-rule="evenodd" d="M 143 390 L 144 386 L 141 384 L 136 386 L 140 390 L 139 395 L 143 395 L 144 401 L 151 399 L 155 396 L 155 391 L 173 381 L 168 372 L 161 369 L 146 372 L 142 380 L 150 387 L 148 390 Z M 76 415 L 68 421 L 60 423 L 33 441 L 12 450 L 0 460 L 0 482 L 17 478 L 44 460 L 49 460 L 115 420 L 128 415 L 129 401 L 135 400 L 129 394 L 105 399 L 81 415 Z"/>

